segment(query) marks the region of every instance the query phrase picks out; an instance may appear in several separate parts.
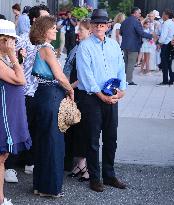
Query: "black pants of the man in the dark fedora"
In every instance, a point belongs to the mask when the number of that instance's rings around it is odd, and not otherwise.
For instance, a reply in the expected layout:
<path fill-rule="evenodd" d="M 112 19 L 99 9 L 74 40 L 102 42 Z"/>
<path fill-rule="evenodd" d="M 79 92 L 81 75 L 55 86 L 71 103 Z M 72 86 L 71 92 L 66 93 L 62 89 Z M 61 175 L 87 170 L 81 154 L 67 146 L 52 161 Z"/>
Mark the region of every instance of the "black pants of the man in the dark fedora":
<path fill-rule="evenodd" d="M 100 180 L 99 138 L 102 131 L 102 177 L 115 176 L 114 159 L 117 148 L 118 104 L 108 105 L 96 95 L 79 91 L 85 136 L 87 137 L 87 165 L 91 180 Z"/>

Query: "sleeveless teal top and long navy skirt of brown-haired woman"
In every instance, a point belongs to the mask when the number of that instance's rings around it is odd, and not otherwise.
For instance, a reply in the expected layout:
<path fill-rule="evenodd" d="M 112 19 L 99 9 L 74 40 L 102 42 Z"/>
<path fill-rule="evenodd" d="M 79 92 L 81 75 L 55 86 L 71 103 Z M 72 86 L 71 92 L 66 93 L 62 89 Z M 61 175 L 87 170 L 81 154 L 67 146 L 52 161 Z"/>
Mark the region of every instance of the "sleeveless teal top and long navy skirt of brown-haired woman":
<path fill-rule="evenodd" d="M 39 46 L 39 48 L 42 47 L 53 49 L 50 44 Z M 41 58 L 39 52 L 35 60 L 48 68 L 49 65 Z M 34 64 L 36 65 L 37 63 Z M 38 88 L 33 101 L 36 130 L 33 136 L 33 189 L 42 194 L 58 195 L 62 192 L 64 135 L 58 128 L 58 112 L 60 102 L 64 97 L 65 91 L 56 80 L 38 78 Z"/>

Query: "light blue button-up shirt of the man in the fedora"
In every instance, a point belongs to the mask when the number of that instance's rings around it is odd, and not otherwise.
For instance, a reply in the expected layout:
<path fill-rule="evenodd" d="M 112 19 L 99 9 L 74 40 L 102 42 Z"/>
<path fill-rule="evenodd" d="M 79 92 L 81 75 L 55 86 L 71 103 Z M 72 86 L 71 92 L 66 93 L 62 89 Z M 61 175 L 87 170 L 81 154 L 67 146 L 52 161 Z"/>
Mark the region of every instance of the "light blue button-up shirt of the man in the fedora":
<path fill-rule="evenodd" d="M 102 42 L 91 35 L 82 41 L 76 53 L 78 89 L 88 93 L 101 92 L 111 78 L 121 80 L 120 90 L 125 90 L 126 74 L 119 44 L 110 38 Z"/>

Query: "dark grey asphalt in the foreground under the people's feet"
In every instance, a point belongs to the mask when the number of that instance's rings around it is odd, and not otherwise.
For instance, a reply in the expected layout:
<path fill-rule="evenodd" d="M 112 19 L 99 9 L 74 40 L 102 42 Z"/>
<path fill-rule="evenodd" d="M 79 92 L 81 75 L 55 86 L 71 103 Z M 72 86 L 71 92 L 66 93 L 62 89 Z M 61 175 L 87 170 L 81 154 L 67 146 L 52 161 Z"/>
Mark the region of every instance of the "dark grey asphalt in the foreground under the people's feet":
<path fill-rule="evenodd" d="M 106 187 L 103 193 L 90 191 L 88 183 L 68 179 L 65 196 L 45 199 L 32 194 L 32 177 L 19 173 L 18 184 L 6 184 L 6 196 L 14 205 L 173 205 L 174 167 L 115 165 L 117 176 L 127 183 L 126 190 Z"/>

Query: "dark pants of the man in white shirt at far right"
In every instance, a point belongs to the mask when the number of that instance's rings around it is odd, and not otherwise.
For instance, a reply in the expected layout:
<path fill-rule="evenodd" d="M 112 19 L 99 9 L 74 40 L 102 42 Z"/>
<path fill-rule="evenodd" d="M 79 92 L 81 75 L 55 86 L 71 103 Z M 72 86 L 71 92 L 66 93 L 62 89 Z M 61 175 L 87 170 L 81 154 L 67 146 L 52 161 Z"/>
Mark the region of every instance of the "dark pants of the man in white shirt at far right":
<path fill-rule="evenodd" d="M 173 72 L 171 69 L 171 60 L 170 60 L 170 45 L 162 45 L 161 48 L 161 68 L 163 72 L 163 83 L 168 83 L 168 75 L 170 81 L 174 81 Z"/>

